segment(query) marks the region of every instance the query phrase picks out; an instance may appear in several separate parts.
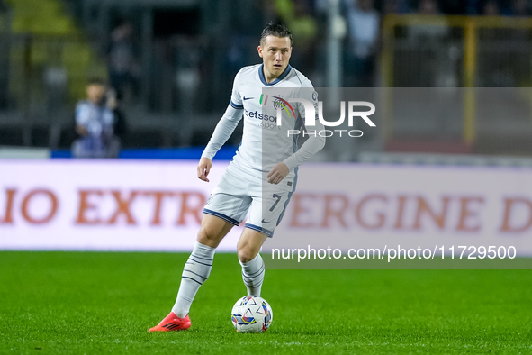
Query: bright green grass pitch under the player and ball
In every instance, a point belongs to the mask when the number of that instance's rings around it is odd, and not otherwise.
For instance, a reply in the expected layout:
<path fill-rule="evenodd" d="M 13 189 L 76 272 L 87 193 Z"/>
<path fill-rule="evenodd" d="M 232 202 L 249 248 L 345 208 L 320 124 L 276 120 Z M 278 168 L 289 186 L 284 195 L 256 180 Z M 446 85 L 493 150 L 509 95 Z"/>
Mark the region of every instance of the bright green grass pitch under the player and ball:
<path fill-rule="evenodd" d="M 531 269 L 268 269 L 274 322 L 241 334 L 245 287 L 216 255 L 186 332 L 147 332 L 187 254 L 0 252 L 0 353 L 529 353 Z"/>

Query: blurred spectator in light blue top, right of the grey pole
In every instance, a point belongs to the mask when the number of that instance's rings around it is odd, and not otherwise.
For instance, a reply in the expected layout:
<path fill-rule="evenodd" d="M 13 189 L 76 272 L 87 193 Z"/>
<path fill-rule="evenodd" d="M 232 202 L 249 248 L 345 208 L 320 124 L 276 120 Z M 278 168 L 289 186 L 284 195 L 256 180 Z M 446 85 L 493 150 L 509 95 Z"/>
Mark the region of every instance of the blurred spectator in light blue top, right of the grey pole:
<path fill-rule="evenodd" d="M 344 86 L 372 87 L 381 26 L 374 1 L 350 1 L 347 4 L 347 25 Z"/>

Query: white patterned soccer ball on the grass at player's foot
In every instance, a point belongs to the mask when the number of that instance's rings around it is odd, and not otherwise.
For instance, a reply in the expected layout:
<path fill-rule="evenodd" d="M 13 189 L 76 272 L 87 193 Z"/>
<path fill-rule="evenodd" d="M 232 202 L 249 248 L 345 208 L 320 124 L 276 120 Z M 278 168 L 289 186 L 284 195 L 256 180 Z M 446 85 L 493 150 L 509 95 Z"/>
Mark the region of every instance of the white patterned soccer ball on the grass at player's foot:
<path fill-rule="evenodd" d="M 273 318 L 272 307 L 259 296 L 240 298 L 231 312 L 237 332 L 266 332 Z"/>

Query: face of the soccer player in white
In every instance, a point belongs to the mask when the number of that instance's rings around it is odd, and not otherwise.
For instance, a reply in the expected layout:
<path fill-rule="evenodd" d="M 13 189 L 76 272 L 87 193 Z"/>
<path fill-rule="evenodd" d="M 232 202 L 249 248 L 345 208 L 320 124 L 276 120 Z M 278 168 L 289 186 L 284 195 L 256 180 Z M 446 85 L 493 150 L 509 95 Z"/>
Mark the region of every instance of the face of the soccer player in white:
<path fill-rule="evenodd" d="M 258 46 L 258 55 L 263 59 L 266 81 L 275 80 L 288 67 L 292 55 L 289 37 L 267 36 Z"/>

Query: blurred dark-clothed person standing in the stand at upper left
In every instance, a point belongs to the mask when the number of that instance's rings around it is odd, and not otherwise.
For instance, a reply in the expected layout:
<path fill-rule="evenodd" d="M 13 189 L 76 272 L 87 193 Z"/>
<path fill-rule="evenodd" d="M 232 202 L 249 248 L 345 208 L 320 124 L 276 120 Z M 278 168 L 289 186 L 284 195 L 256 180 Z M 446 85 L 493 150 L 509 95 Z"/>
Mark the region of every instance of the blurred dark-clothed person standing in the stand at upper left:
<path fill-rule="evenodd" d="M 139 71 L 133 49 L 133 26 L 130 22 L 122 22 L 113 30 L 108 55 L 110 84 L 129 102 L 134 77 Z"/>

